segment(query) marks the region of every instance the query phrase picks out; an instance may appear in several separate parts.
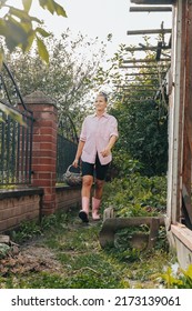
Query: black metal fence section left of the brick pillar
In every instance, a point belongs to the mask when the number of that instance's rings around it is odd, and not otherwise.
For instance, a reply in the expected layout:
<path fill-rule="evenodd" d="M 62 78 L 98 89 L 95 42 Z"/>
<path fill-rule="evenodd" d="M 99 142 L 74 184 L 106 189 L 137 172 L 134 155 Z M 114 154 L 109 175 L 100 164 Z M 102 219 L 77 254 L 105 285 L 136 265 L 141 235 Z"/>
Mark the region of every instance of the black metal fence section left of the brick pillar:
<path fill-rule="evenodd" d="M 0 184 L 31 182 L 32 112 L 3 63 L 0 71 Z"/>

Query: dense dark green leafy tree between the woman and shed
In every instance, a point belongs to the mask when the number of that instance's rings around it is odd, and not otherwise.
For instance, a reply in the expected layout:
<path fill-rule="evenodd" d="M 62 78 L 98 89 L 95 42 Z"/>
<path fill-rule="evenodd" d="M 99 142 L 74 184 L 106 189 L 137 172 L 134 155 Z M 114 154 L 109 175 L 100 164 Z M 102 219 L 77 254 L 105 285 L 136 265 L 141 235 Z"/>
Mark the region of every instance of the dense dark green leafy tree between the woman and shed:
<path fill-rule="evenodd" d="M 152 52 L 145 56 L 146 60 L 150 58 L 154 58 Z M 154 76 L 150 78 L 150 74 L 158 72 L 158 64 L 140 69 L 140 76 L 130 81 L 128 70 L 119 68 L 122 59 L 135 59 L 133 53 L 128 56 L 123 44 L 115 53 L 110 74 L 107 77 L 109 79 L 110 76 L 113 82 L 114 104 L 111 113 L 119 121 L 117 154 L 127 153 L 128 161 L 130 158 L 140 161 L 140 172 L 143 174 L 163 174 L 168 165 L 168 99 L 163 91 L 155 99 L 155 90 L 152 96 L 148 91 L 148 84 L 154 83 Z M 161 79 L 158 82 L 156 90 L 161 87 Z"/>

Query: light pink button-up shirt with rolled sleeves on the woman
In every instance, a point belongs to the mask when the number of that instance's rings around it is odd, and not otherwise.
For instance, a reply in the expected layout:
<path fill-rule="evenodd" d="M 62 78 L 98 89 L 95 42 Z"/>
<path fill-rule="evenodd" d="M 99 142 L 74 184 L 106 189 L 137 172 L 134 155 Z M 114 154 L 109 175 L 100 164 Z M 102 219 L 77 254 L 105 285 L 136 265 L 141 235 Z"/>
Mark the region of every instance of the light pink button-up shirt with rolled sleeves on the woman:
<path fill-rule="evenodd" d="M 80 140 L 84 141 L 81 159 L 83 162 L 95 163 L 98 152 L 102 165 L 108 164 L 112 160 L 112 154 L 102 157 L 101 151 L 108 146 L 112 136 L 118 137 L 117 119 L 108 113 L 97 117 L 88 116 L 83 123 Z"/>

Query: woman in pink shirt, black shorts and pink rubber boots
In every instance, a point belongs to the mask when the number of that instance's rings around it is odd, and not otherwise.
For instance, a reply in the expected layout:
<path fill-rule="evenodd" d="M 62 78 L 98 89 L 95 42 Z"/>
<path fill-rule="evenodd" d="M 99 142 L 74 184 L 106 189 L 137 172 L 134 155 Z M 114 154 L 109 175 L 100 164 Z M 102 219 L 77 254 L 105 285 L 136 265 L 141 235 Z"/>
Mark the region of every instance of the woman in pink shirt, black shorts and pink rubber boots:
<path fill-rule="evenodd" d="M 82 160 L 82 209 L 79 217 L 89 222 L 89 207 L 91 189 L 95 175 L 95 188 L 92 197 L 92 219 L 100 220 L 104 179 L 112 160 L 111 149 L 118 139 L 118 122 L 113 116 L 107 113 L 108 97 L 100 92 L 95 98 L 95 113 L 88 116 L 83 123 L 73 167 Z"/>

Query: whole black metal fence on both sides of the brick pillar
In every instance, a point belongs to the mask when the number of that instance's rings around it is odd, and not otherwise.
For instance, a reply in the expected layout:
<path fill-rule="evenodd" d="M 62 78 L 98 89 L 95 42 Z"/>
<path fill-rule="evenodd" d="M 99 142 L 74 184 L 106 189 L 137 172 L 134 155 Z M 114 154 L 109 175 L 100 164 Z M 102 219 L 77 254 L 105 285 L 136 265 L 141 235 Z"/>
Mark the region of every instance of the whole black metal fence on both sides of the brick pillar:
<path fill-rule="evenodd" d="M 30 184 L 32 162 L 32 111 L 27 109 L 6 63 L 0 70 L 0 185 Z M 72 119 L 63 116 L 58 127 L 57 182 L 72 163 L 78 136 Z"/>

